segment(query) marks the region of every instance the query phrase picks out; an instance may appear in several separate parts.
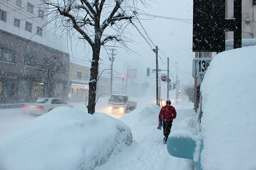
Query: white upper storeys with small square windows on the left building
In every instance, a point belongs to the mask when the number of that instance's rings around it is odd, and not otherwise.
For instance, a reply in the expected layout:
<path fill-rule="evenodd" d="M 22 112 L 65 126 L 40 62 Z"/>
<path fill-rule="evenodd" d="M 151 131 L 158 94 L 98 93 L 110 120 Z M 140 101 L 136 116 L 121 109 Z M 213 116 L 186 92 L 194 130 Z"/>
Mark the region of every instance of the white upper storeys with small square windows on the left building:
<path fill-rule="evenodd" d="M 45 44 L 47 14 L 41 0 L 1 0 L 0 29 Z"/>

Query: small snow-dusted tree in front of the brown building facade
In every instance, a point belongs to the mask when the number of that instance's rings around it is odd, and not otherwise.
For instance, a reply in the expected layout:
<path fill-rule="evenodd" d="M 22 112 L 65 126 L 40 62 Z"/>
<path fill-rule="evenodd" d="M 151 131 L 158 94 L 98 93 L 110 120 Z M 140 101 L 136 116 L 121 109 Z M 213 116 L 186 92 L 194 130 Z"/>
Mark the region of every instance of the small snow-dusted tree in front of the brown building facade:
<path fill-rule="evenodd" d="M 39 76 L 42 78 L 43 82 L 45 83 L 46 97 L 54 97 L 53 90 L 54 90 L 55 83 L 52 81 L 52 78 L 55 74 L 63 73 L 64 68 L 65 68 L 65 65 L 56 56 L 44 59 L 42 70 L 40 70 L 43 73 L 43 75 L 39 74 Z"/>

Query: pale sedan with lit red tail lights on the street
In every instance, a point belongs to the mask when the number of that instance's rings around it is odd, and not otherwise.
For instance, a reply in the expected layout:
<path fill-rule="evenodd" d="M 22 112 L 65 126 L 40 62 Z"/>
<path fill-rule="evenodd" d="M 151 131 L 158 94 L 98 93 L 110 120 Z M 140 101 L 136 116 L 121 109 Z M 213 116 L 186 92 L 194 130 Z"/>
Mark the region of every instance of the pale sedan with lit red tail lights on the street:
<path fill-rule="evenodd" d="M 31 103 L 24 104 L 23 111 L 27 114 L 43 115 L 60 106 L 72 107 L 60 98 L 38 98 Z"/>

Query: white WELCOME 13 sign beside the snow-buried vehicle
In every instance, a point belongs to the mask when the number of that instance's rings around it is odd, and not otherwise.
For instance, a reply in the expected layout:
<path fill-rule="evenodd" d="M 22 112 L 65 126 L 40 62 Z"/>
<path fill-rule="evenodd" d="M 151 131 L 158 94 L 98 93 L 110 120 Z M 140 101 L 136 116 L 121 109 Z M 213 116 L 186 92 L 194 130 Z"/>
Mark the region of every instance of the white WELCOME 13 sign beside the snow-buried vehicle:
<path fill-rule="evenodd" d="M 193 78 L 204 78 L 204 74 L 209 67 L 212 58 L 194 58 L 193 59 Z"/>

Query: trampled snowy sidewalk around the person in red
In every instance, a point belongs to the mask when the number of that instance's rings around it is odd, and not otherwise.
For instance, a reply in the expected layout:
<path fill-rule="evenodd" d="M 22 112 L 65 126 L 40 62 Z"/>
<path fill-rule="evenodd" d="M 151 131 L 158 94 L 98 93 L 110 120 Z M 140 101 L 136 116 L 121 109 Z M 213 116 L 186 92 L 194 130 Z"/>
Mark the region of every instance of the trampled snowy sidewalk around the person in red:
<path fill-rule="evenodd" d="M 173 121 L 172 131 L 187 129 L 195 133 L 193 104 L 173 106 L 177 107 L 177 117 Z M 133 144 L 122 152 L 112 155 L 108 162 L 97 166 L 95 170 L 193 169 L 192 160 L 172 157 L 167 152 L 166 145 L 162 143 L 163 129 L 161 131 L 157 129 L 159 111 L 160 107 L 147 105 L 120 117 L 119 119 L 132 129 Z"/>

